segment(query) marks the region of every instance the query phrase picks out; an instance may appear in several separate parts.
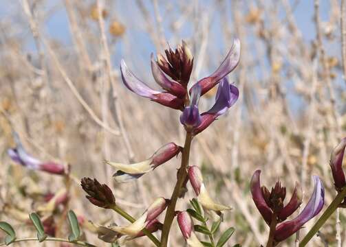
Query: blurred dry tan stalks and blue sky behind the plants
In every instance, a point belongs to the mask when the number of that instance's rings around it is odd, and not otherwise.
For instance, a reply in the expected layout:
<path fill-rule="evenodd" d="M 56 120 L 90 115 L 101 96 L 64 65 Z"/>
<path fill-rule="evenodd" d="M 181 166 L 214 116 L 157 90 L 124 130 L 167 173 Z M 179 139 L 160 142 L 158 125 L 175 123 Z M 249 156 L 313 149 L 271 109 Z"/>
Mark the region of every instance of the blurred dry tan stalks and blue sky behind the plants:
<path fill-rule="evenodd" d="M 164 143 L 184 144 L 180 112 L 131 93 L 119 70 L 124 58 L 138 78 L 155 87 L 150 54 L 163 53 L 168 44 L 175 48 L 182 40 L 195 57 L 191 84 L 219 66 L 233 38 L 241 40 L 241 61 L 228 76 L 239 88 L 239 100 L 194 139 L 190 162 L 202 167 L 211 196 L 234 208 L 221 225 L 236 228 L 228 246 L 266 242 L 268 227 L 249 191 L 255 169 L 262 170 L 262 183 L 268 187 L 280 178 L 288 198 L 294 183 L 301 183 L 303 205 L 313 189 L 311 175 L 321 176 L 326 203 L 332 200 L 329 155 L 346 136 L 341 1 L 1 3 L 0 220 L 11 222 L 17 235 L 36 235 L 26 220 L 28 213 L 40 210 L 58 237 L 69 231 L 67 209 L 85 221 L 125 224 L 85 199 L 79 185 L 84 176 L 111 186 L 118 204 L 131 215 L 140 215 L 158 196 L 170 198 L 179 158 L 126 185 L 112 183 L 114 171 L 103 160 L 142 161 Z M 214 98 L 215 91 L 208 93 L 201 108 L 208 109 Z M 32 171 L 10 161 L 6 150 L 14 146 L 12 130 L 30 154 L 69 164 L 73 177 Z M 45 196 L 62 189 L 69 200 L 47 209 Z M 193 196 L 189 187 L 177 209 L 186 209 Z M 310 246 L 336 246 L 336 238 L 346 246 L 345 227 L 345 212 L 340 211 Z M 106 246 L 87 226 L 84 230 L 88 242 Z M 176 223 L 171 233 L 170 246 L 184 246 Z M 303 229 L 301 235 L 305 233 Z M 142 238 L 128 246 L 150 245 Z M 281 244 L 293 245 L 294 236 Z"/>

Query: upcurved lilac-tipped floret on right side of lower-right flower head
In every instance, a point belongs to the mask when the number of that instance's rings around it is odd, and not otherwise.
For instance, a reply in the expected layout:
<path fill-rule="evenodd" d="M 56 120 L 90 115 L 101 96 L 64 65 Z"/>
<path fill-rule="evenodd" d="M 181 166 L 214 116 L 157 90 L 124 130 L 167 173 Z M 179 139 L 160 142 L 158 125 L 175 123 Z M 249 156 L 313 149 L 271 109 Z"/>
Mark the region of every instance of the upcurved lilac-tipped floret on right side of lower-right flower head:
<path fill-rule="evenodd" d="M 303 224 L 316 216 L 323 208 L 325 197 L 323 183 L 318 176 L 313 176 L 313 178 L 315 183 L 314 193 L 312 193 L 309 202 L 307 202 L 305 208 L 297 217 L 277 226 L 277 230 L 275 231 L 275 240 L 277 242 L 281 242 L 296 233 Z"/>

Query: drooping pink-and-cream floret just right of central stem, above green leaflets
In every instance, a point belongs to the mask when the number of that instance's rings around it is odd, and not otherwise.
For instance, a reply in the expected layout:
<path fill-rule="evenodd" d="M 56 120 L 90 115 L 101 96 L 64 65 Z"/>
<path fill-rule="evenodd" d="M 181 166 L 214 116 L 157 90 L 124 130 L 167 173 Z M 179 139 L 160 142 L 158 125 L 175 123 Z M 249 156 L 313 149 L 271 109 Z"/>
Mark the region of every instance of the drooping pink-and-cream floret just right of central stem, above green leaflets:
<path fill-rule="evenodd" d="M 188 168 L 188 179 L 197 195 L 197 200 L 202 207 L 207 210 L 215 211 L 217 214 L 221 214 L 221 211 L 230 210 L 231 207 L 224 206 L 222 204 L 215 203 L 209 196 L 208 191 L 203 183 L 203 176 L 201 170 L 193 165 Z"/>

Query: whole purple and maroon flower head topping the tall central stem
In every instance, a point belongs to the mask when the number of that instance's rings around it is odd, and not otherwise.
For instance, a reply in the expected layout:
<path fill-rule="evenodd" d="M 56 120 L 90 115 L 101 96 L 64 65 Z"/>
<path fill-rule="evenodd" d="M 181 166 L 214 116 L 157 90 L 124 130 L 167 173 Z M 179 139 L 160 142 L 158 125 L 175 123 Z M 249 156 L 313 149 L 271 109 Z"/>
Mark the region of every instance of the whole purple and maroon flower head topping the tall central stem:
<path fill-rule="evenodd" d="M 147 97 L 154 102 L 177 110 L 184 110 L 180 121 L 186 130 L 197 128 L 195 134 L 208 127 L 219 115 L 226 112 L 238 98 L 239 92 L 233 85 L 225 82 L 225 77 L 237 67 L 240 59 L 240 41 L 235 39 L 232 49 L 219 68 L 207 78 L 199 80 L 190 90 L 191 102 L 188 103 L 187 86 L 193 69 L 193 56 L 184 41 L 175 51 L 169 48 L 165 50 L 166 58 L 158 54 L 155 61 L 151 54 L 151 71 L 155 82 L 164 91 L 151 89 L 147 84 L 139 80 L 136 75 L 127 68 L 125 61 L 120 64 L 122 81 L 133 93 Z M 219 87 L 215 106 L 204 115 L 199 115 L 198 99 L 219 82 L 225 82 Z"/>

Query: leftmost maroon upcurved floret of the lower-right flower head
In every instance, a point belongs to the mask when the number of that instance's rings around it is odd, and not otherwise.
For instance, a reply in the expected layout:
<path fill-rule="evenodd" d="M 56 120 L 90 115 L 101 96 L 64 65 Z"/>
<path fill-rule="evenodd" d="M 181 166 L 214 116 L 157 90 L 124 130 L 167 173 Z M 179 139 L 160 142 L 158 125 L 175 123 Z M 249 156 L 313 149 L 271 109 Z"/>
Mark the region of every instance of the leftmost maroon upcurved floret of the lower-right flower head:
<path fill-rule="evenodd" d="M 250 189 L 252 194 L 252 200 L 254 200 L 259 213 L 261 213 L 263 219 L 270 224 L 272 220 L 272 209 L 268 207 L 266 200 L 263 198 L 263 193 L 261 190 L 261 181 L 260 181 L 261 170 L 257 170 L 251 178 Z"/>

